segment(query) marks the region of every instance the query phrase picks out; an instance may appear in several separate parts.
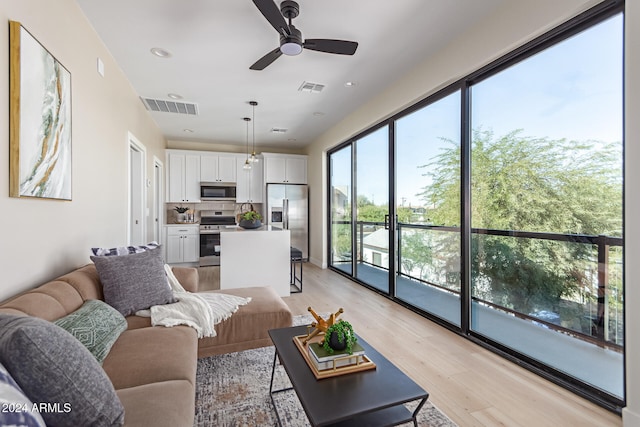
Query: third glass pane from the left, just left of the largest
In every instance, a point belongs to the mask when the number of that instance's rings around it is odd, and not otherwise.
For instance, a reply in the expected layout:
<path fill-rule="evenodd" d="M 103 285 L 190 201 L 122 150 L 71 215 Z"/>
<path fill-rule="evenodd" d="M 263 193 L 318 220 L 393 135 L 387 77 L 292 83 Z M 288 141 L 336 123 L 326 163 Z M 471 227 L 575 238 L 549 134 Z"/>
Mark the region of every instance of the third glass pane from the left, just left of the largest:
<path fill-rule="evenodd" d="M 460 325 L 460 92 L 396 122 L 396 296 Z"/>

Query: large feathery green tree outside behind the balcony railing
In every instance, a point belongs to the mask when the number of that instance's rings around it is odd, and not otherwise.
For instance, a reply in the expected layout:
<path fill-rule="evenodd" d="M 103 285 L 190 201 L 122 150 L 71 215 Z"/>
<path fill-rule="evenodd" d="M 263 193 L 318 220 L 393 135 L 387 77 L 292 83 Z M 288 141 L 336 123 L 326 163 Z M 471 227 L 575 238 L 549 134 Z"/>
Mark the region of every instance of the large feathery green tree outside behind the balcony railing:
<path fill-rule="evenodd" d="M 472 141 L 473 228 L 622 235 L 620 143 L 532 138 L 521 131 L 498 138 L 478 130 Z M 460 146 L 449 142 L 423 166 L 432 183 L 421 195 L 436 225 L 460 224 Z M 585 285 L 593 250 L 474 234 L 473 295 L 524 313 L 557 307 Z"/>

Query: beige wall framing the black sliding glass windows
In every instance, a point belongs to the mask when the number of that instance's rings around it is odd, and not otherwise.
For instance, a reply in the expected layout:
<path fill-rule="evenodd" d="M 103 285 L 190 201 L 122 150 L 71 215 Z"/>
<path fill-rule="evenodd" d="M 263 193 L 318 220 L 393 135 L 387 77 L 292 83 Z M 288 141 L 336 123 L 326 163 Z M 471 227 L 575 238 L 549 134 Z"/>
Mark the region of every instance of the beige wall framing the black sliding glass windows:
<path fill-rule="evenodd" d="M 599 3 L 589 0 L 510 1 L 499 14 L 462 34 L 446 49 L 426 59 L 412 72 L 394 82 L 382 94 L 363 105 L 341 123 L 327 131 L 309 148 L 311 185 L 310 259 L 326 267 L 326 152 L 372 124 L 401 111 L 449 83 L 499 58 L 514 47 L 543 34 L 561 22 Z M 623 411 L 625 427 L 640 426 L 640 4 L 626 2 L 626 198 L 625 198 L 625 305 L 626 305 L 626 387 L 627 407 Z M 635 220 L 635 221 L 634 221 Z M 636 301 L 638 301 L 636 303 Z"/>

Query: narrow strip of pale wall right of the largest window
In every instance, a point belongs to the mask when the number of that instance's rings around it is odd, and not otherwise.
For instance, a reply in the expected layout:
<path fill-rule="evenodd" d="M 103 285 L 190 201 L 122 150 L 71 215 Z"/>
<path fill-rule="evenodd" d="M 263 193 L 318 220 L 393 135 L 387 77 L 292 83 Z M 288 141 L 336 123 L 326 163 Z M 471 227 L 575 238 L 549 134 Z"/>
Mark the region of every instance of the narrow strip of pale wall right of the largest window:
<path fill-rule="evenodd" d="M 625 350 L 627 407 L 625 427 L 640 426 L 640 4 L 625 5 Z M 637 302 L 636 302 L 637 301 Z"/>

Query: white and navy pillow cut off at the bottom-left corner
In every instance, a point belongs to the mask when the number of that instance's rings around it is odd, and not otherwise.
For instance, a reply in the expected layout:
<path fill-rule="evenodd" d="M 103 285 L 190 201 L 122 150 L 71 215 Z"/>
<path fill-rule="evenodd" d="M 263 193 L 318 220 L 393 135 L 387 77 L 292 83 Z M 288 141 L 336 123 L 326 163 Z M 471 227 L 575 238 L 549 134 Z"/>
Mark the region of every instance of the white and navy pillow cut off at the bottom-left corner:
<path fill-rule="evenodd" d="M 33 402 L 0 364 L 0 426 L 46 427 Z M 36 407 L 37 408 L 37 407 Z"/>

